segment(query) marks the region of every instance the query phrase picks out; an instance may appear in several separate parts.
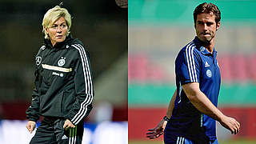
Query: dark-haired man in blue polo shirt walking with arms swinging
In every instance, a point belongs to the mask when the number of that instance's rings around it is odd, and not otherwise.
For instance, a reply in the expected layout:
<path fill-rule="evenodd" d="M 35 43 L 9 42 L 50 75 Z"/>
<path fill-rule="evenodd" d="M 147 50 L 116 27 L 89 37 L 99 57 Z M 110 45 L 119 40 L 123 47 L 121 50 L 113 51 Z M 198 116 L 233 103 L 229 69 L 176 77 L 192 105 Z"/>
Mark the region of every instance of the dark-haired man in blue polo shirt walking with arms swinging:
<path fill-rule="evenodd" d="M 238 134 L 239 122 L 216 107 L 221 78 L 214 40 L 220 19 L 220 10 L 212 3 L 204 2 L 194 10 L 197 36 L 178 53 L 175 60 L 177 90 L 166 116 L 150 129 L 148 138 L 158 138 L 164 131 L 166 144 L 218 144 L 215 120 L 232 134 Z"/>

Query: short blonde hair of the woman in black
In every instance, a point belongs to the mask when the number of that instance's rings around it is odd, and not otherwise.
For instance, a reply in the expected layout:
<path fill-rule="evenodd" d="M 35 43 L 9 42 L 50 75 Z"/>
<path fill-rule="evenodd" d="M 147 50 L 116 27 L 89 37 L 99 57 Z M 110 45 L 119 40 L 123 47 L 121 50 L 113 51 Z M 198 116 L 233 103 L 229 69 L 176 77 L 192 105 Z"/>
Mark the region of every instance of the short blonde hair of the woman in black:
<path fill-rule="evenodd" d="M 50 27 L 54 24 L 58 18 L 63 17 L 66 20 L 67 25 L 67 33 L 66 36 L 70 34 L 70 27 L 71 27 L 71 15 L 70 13 L 61 6 L 54 6 L 46 12 L 42 19 L 42 32 L 45 34 L 45 38 L 50 38 L 48 34 L 46 34 L 46 27 Z"/>

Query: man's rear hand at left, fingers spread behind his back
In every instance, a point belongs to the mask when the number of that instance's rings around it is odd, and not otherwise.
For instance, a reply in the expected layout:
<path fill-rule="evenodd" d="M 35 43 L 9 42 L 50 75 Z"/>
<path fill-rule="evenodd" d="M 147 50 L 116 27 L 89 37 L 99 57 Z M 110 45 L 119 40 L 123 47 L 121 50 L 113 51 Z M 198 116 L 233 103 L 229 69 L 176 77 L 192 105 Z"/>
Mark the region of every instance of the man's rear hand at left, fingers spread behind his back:
<path fill-rule="evenodd" d="M 158 123 L 158 126 L 155 126 L 154 129 L 149 129 L 150 132 L 146 133 L 146 137 L 150 139 L 158 138 L 163 134 L 163 130 L 166 128 L 166 123 L 164 119 Z"/>

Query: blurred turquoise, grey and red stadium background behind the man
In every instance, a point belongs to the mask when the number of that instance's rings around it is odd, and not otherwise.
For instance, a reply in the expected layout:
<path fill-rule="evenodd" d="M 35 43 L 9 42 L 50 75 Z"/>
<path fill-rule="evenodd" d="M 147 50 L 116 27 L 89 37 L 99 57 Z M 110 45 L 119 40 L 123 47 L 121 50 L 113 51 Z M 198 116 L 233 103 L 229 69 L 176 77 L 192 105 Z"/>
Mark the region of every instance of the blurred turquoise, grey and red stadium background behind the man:
<path fill-rule="evenodd" d="M 218 124 L 220 143 L 256 143 L 256 1 L 136 0 L 128 8 L 129 143 L 160 144 L 147 140 L 166 114 L 175 90 L 174 58 L 194 39 L 193 11 L 213 2 L 222 13 L 215 47 L 222 86 L 218 107 L 237 118 L 241 131 L 231 135 Z"/>

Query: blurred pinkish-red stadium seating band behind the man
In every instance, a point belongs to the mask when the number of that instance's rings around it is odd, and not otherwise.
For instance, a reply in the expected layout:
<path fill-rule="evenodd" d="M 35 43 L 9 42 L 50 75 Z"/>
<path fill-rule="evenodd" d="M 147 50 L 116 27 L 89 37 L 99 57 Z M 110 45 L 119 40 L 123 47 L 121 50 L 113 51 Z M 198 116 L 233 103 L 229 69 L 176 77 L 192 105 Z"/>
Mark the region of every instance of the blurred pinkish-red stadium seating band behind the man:
<path fill-rule="evenodd" d="M 218 65 L 222 82 L 256 82 L 256 54 L 219 54 Z M 146 54 L 129 54 L 129 82 L 174 82 L 166 67 L 154 62 Z"/>

